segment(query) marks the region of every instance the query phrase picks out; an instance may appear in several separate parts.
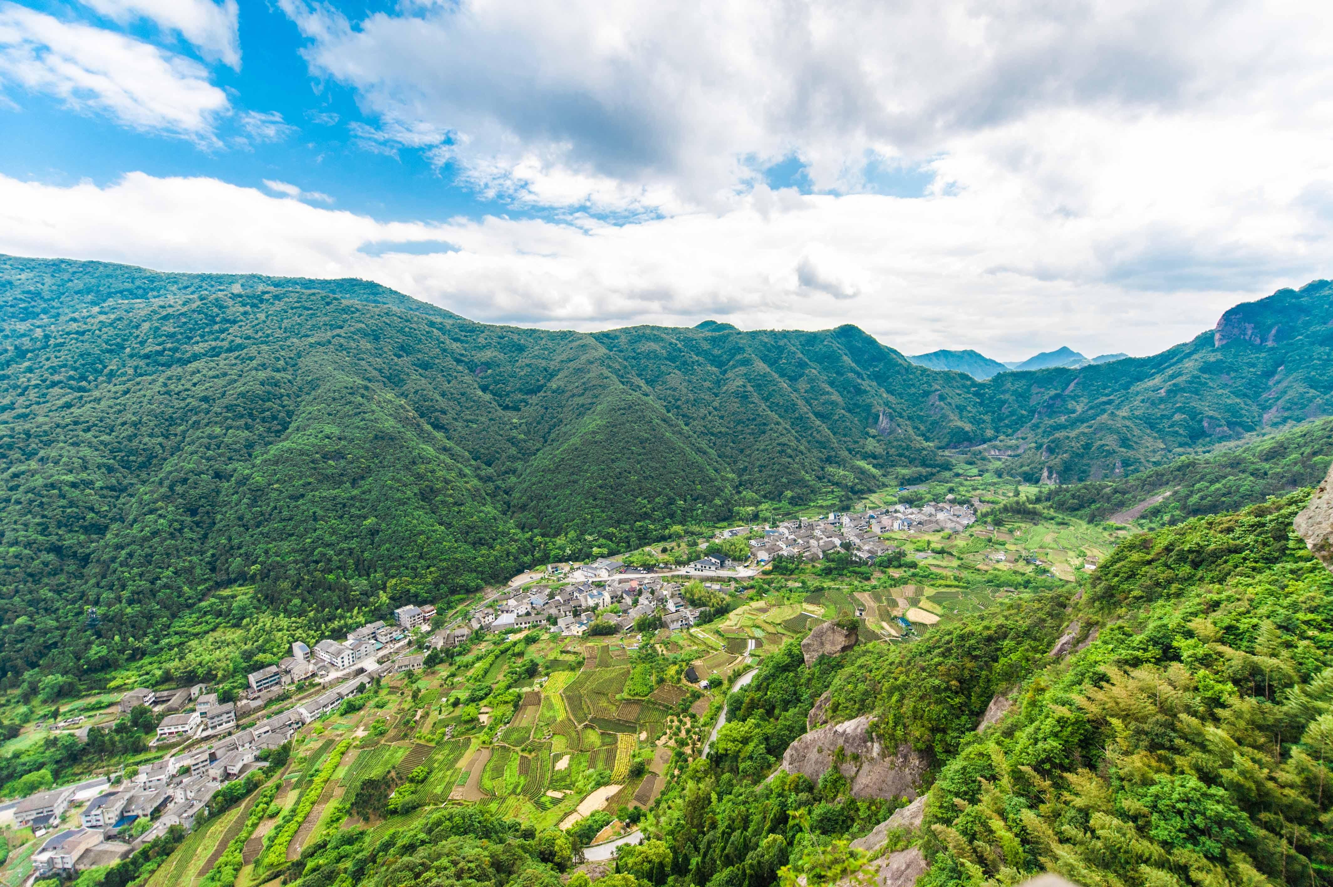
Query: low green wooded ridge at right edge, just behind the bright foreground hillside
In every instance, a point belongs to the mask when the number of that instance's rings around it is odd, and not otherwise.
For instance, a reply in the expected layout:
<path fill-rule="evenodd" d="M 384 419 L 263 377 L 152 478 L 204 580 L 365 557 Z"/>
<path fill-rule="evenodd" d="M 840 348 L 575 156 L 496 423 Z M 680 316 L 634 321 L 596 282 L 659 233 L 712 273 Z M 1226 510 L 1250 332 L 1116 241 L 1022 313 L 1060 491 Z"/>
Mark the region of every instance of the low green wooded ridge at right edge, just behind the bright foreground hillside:
<path fill-rule="evenodd" d="M 1184 456 L 1121 480 L 1053 487 L 1042 492 L 1041 502 L 1084 520 L 1104 520 L 1170 490 L 1174 492 L 1149 507 L 1142 520 L 1176 524 L 1313 487 L 1333 462 L 1329 454 L 1333 454 L 1333 419 L 1321 419 L 1244 447 Z"/>

